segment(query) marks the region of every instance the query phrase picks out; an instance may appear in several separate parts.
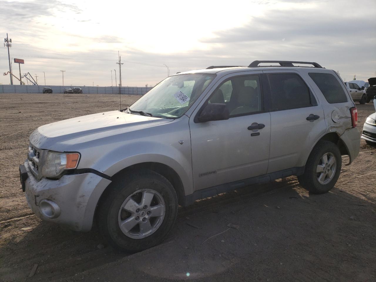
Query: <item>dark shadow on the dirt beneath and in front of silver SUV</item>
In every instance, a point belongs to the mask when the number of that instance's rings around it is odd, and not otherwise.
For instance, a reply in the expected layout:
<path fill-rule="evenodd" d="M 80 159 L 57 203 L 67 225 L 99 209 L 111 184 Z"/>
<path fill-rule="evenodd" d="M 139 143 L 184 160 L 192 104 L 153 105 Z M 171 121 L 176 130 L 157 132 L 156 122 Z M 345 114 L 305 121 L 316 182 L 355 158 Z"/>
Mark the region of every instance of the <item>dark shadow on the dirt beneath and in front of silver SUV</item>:
<path fill-rule="evenodd" d="M 179 209 L 164 243 L 133 255 L 107 246 L 96 227 L 78 233 L 33 218 L 1 247 L 0 277 L 24 279 L 38 264 L 28 280 L 371 281 L 375 194 L 337 187 L 309 194 L 288 177 L 200 200 Z"/>

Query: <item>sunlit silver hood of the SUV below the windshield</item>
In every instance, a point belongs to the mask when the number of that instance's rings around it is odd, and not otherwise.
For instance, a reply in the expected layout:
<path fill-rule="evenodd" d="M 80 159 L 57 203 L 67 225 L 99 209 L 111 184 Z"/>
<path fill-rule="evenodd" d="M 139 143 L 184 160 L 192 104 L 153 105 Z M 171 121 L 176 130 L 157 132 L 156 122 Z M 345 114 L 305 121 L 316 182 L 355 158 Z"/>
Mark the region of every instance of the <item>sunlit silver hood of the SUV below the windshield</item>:
<path fill-rule="evenodd" d="M 72 146 L 107 136 L 144 129 L 173 121 L 110 111 L 61 120 L 38 127 L 30 135 L 30 143 L 39 149 L 68 151 Z M 66 146 L 62 146 L 65 144 Z"/>

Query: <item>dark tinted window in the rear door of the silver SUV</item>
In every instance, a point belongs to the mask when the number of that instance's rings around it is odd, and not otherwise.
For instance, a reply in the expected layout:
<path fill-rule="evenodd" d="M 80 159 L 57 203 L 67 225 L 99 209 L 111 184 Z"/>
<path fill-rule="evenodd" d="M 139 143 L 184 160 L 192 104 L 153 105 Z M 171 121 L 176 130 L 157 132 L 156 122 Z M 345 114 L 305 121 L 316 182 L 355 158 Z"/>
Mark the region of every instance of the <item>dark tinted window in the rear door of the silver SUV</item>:
<path fill-rule="evenodd" d="M 317 105 L 303 79 L 294 73 L 268 74 L 271 111 L 305 108 Z"/>

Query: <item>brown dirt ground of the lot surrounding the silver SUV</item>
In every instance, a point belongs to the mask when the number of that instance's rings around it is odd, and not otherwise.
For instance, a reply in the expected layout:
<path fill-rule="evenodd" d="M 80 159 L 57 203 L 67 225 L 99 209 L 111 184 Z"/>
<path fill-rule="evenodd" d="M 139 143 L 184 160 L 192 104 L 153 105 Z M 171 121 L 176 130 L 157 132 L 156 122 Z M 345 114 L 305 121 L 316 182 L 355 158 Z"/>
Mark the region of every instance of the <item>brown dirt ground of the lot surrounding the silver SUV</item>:
<path fill-rule="evenodd" d="M 118 109 L 118 98 L 0 95 L 0 281 L 376 281 L 376 148 L 363 139 L 329 193 L 309 194 L 288 177 L 201 200 L 180 208 L 164 243 L 133 255 L 107 246 L 96 227 L 78 233 L 39 220 L 18 176 L 30 133 Z M 138 98 L 122 96 L 123 108 Z M 361 130 L 374 108 L 356 106 Z"/>

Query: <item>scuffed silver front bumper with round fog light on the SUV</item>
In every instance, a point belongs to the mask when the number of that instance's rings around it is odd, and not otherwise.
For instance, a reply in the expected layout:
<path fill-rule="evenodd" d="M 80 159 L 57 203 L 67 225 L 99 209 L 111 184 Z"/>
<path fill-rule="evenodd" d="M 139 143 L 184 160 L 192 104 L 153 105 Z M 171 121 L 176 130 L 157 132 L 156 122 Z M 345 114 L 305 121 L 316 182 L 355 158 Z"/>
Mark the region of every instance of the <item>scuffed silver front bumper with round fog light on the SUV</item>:
<path fill-rule="evenodd" d="M 75 231 L 91 229 L 99 198 L 111 183 L 94 173 L 67 174 L 58 180 L 42 178 L 38 181 L 28 161 L 20 166 L 20 177 L 27 203 L 39 218 Z"/>

